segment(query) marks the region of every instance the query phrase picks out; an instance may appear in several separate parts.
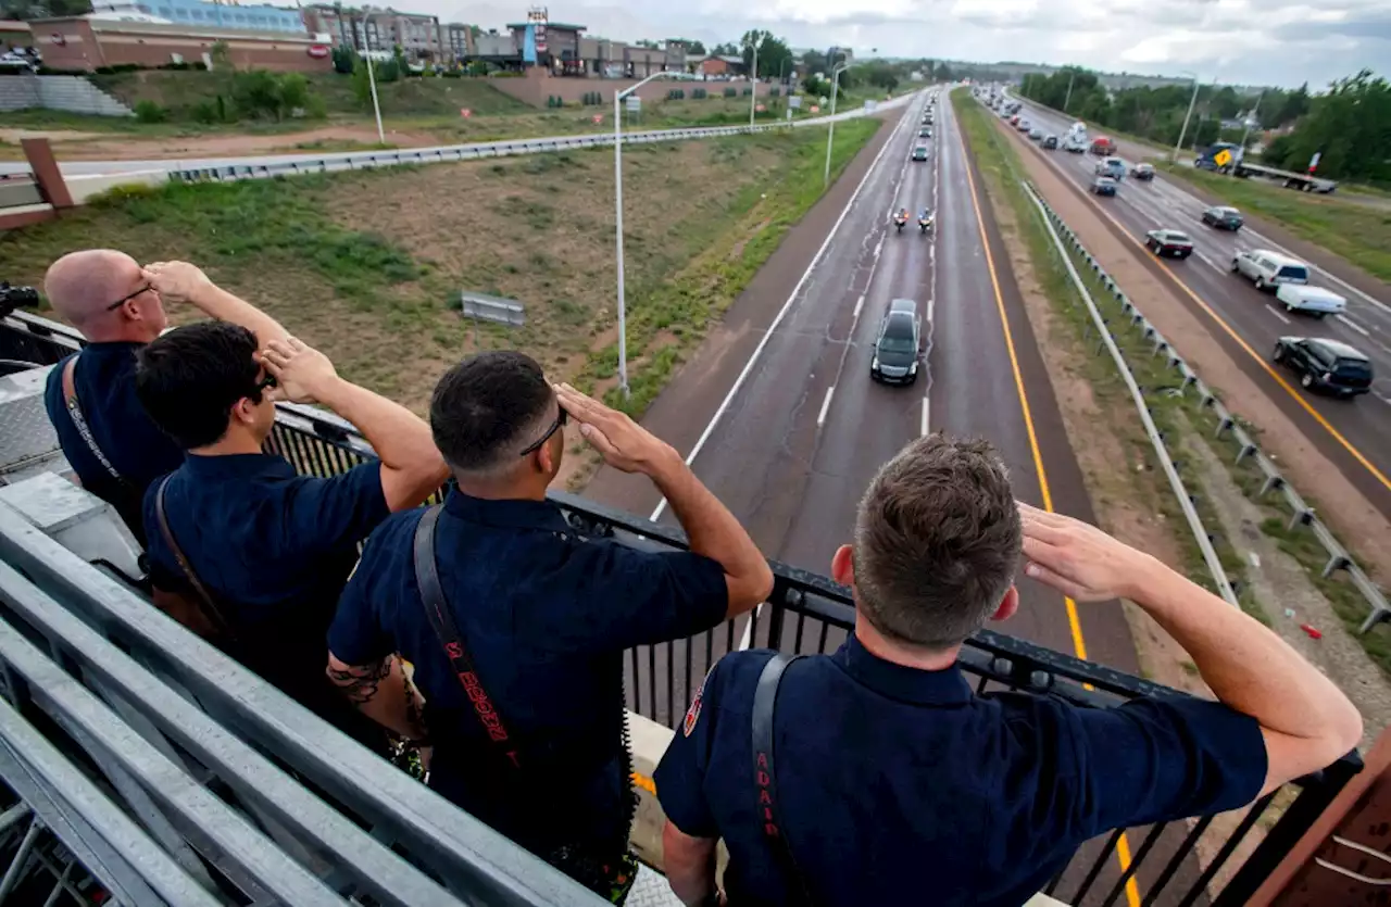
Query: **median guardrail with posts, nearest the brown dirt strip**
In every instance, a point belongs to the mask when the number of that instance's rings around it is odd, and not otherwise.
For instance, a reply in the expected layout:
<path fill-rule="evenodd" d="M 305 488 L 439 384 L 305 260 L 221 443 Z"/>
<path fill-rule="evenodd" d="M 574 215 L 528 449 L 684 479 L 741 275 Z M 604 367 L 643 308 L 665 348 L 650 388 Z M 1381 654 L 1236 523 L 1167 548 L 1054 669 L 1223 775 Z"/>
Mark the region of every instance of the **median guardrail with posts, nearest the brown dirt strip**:
<path fill-rule="evenodd" d="M 1252 462 L 1255 462 L 1263 476 L 1260 491 L 1256 494 L 1257 502 L 1266 501 L 1271 491 L 1278 492 L 1280 498 L 1289 508 L 1289 523 L 1287 524 L 1287 529 L 1292 531 L 1301 526 L 1308 527 L 1309 531 L 1313 533 L 1313 537 L 1319 541 L 1320 547 L 1323 547 L 1324 554 L 1328 556 L 1320 575 L 1327 579 L 1337 570 L 1344 570 L 1346 573 L 1352 586 L 1367 602 L 1367 608 L 1370 608 L 1370 613 L 1367 615 L 1367 619 L 1363 620 L 1359 632 L 1367 633 L 1377 623 L 1391 620 L 1391 604 L 1387 602 L 1385 593 L 1383 593 L 1381 588 L 1372 581 L 1372 577 L 1367 576 L 1366 570 L 1358 565 L 1348 549 L 1344 548 L 1342 544 L 1334 537 L 1327 524 L 1319 519 L 1314 509 L 1305 502 L 1303 497 L 1301 497 L 1299 492 L 1295 491 L 1294 485 L 1291 485 L 1289 481 L 1280 473 L 1274 462 L 1266 456 L 1255 440 L 1252 440 L 1251 434 L 1238 423 L 1237 417 L 1232 416 L 1231 410 L 1228 410 L 1227 406 L 1217 399 L 1217 395 L 1213 394 L 1206 384 L 1203 384 L 1202 378 L 1198 377 L 1198 373 L 1189 367 L 1182 356 L 1174 352 L 1174 349 L 1168 345 L 1168 341 L 1164 339 L 1164 335 L 1159 332 L 1159 328 L 1149 323 L 1149 319 L 1146 319 L 1145 314 L 1135 307 L 1135 303 L 1132 303 L 1121 288 L 1117 287 L 1111 275 L 1107 274 L 1092 253 L 1082 246 L 1077 234 L 1072 232 L 1066 223 L 1063 223 L 1063 218 L 1059 217 L 1057 211 L 1049 207 L 1047 202 L 1043 202 L 1043 199 L 1032 191 L 1032 186 L 1028 188 L 1034 199 L 1042 206 L 1050 224 L 1057 227 L 1057 230 L 1067 239 L 1067 243 L 1082 256 L 1082 260 L 1086 262 L 1088 267 L 1092 268 L 1102 284 L 1110 291 L 1113 300 L 1120 303 L 1121 312 L 1129 326 L 1141 331 L 1142 337 L 1152 344 L 1153 353 L 1156 356 L 1164 356 L 1168 366 L 1182 376 L 1181 390 L 1187 392 L 1189 387 L 1193 387 L 1198 391 L 1196 398 L 1199 410 L 1212 410 L 1217 419 L 1214 437 L 1221 438 L 1225 434 L 1232 437 L 1237 442 L 1237 458 L 1234 462 L 1241 463 L 1246 458 L 1252 458 Z"/>

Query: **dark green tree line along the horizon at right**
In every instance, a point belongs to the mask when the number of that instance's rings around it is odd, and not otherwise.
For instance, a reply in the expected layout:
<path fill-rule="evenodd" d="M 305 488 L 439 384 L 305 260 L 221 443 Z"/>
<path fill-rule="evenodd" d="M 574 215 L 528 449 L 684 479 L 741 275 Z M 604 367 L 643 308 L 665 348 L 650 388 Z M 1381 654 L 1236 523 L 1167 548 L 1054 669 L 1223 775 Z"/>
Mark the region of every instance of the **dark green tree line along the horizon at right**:
<path fill-rule="evenodd" d="M 1391 182 L 1391 85 L 1367 70 L 1338 79 L 1321 93 L 1312 93 L 1308 83 L 1294 90 L 1246 93 L 1230 85 L 1200 85 L 1193 100 L 1191 85 L 1109 92 L 1096 72 L 1066 67 L 1050 75 L 1025 75 L 1021 93 L 1078 120 L 1160 145 L 1178 142 L 1192 103 L 1185 146 L 1242 141 L 1249 146 L 1262 131 L 1277 131 L 1262 153 L 1262 160 L 1274 167 L 1303 171 L 1320 153 L 1323 175 Z M 1248 120 L 1253 124 L 1249 131 Z"/>

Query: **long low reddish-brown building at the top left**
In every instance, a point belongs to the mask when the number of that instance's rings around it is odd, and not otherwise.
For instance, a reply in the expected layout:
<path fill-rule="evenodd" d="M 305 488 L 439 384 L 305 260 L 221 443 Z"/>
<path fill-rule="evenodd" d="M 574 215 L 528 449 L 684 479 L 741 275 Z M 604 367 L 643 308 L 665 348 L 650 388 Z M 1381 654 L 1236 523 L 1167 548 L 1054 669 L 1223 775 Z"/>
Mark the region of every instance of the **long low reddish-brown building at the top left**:
<path fill-rule="evenodd" d="M 43 64 L 54 70 L 86 70 L 135 64 L 211 64 L 213 45 L 225 42 L 236 67 L 325 71 L 330 49 L 309 35 L 284 35 L 231 28 L 189 28 L 172 22 L 128 22 L 96 17 L 33 19 Z"/>

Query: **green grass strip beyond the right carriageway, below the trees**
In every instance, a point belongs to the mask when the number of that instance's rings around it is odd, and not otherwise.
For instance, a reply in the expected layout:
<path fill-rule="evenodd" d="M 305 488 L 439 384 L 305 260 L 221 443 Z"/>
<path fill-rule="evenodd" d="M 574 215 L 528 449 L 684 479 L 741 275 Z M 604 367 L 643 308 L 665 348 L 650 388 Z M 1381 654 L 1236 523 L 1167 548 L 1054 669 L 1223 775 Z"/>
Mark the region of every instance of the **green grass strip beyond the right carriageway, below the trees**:
<path fill-rule="evenodd" d="M 1160 163 L 1164 172 L 1228 204 L 1284 227 L 1323 246 L 1367 274 L 1391 281 L 1391 204 L 1385 199 L 1356 202 L 1294 192 L 1263 179 L 1237 179 L 1184 164 Z"/>

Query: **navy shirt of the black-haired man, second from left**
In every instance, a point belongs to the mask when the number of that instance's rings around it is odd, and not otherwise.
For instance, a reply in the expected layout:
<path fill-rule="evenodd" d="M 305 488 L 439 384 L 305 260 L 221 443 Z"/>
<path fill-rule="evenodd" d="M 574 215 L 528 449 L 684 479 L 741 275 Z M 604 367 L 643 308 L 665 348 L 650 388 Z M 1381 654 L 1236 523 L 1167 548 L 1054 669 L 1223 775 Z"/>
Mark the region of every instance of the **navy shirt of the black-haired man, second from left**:
<path fill-rule="evenodd" d="M 152 579 L 186 588 L 145 495 Z M 381 463 L 299 476 L 282 456 L 189 455 L 164 491 L 170 531 L 227 616 L 239 657 L 307 708 L 364 743 L 371 723 L 324 677 L 328 625 L 357 544 L 387 516 Z M 380 732 L 374 732 L 380 737 Z"/>

